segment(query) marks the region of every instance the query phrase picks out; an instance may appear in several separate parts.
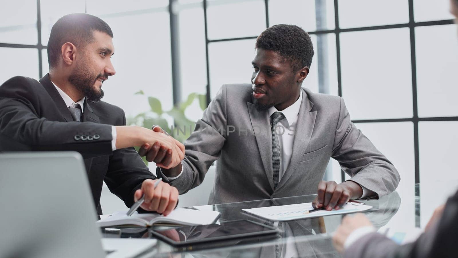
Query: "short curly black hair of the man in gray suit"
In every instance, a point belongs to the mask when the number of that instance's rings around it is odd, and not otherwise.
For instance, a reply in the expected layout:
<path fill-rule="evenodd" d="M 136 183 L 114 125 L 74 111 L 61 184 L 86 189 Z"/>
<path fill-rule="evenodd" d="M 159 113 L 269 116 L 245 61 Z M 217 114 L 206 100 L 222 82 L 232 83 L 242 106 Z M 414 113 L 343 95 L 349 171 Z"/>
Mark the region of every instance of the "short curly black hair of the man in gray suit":
<path fill-rule="evenodd" d="M 294 71 L 310 67 L 315 53 L 309 34 L 289 24 L 273 25 L 264 30 L 256 39 L 256 48 L 278 51 L 292 62 Z"/>

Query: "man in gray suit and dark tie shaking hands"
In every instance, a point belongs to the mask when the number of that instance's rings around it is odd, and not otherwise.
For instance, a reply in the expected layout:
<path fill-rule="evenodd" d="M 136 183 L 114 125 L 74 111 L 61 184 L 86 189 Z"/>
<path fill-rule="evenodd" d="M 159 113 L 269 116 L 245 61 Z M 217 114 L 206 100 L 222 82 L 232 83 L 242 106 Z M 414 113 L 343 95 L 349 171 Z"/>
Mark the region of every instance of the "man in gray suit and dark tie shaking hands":
<path fill-rule="evenodd" d="M 303 29 L 267 28 L 256 40 L 251 84 L 223 85 L 185 141 L 185 159 L 158 168 L 158 176 L 182 194 L 200 185 L 219 159 L 210 204 L 315 194 L 318 188 L 316 207 L 331 210 L 349 198 L 394 191 L 398 171 L 356 129 L 342 97 L 301 88 L 313 54 Z M 330 157 L 350 180 L 322 181 Z"/>

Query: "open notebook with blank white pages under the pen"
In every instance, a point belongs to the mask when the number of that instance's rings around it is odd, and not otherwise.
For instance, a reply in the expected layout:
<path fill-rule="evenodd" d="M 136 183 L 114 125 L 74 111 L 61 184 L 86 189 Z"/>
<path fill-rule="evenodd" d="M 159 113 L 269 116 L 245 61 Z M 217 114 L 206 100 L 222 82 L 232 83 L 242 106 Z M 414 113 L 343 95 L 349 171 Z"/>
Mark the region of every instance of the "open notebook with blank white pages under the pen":
<path fill-rule="evenodd" d="M 169 215 L 158 213 L 137 213 L 127 216 L 126 212 L 116 212 L 96 222 L 99 227 L 119 225 L 137 225 L 149 227 L 153 224 L 206 225 L 212 224 L 219 217 L 217 211 L 198 211 L 192 209 L 175 209 Z"/>

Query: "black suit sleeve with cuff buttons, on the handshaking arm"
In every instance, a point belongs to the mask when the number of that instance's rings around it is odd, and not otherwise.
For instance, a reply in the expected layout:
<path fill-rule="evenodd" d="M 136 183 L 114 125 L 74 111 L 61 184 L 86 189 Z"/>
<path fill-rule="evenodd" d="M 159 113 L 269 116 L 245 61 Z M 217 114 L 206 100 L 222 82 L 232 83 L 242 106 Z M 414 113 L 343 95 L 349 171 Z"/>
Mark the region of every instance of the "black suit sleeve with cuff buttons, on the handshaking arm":
<path fill-rule="evenodd" d="M 13 77 L 0 86 L 0 151 L 78 151 L 84 158 L 112 153 L 111 125 L 42 118 L 40 94 L 47 93 L 30 78 Z M 75 135 L 99 138 L 82 141 Z"/>

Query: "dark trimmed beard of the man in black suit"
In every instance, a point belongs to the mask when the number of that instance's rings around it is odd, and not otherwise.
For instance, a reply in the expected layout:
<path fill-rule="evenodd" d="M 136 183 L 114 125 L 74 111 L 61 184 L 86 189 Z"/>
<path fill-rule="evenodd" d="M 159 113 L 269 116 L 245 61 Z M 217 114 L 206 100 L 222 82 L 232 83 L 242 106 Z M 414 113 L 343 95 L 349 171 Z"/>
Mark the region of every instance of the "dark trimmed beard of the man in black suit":
<path fill-rule="evenodd" d="M 100 73 L 95 75 L 78 65 L 76 71 L 68 78 L 68 81 L 77 90 L 81 91 L 88 101 L 98 102 L 104 97 L 104 90 L 95 86 L 98 78 L 108 78 L 108 74 Z"/>

